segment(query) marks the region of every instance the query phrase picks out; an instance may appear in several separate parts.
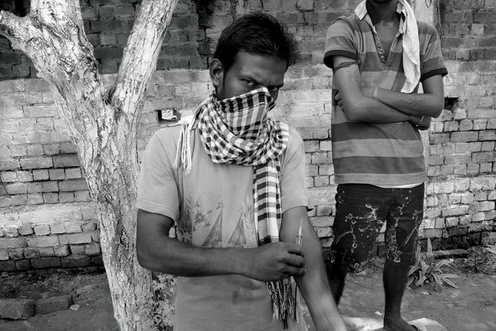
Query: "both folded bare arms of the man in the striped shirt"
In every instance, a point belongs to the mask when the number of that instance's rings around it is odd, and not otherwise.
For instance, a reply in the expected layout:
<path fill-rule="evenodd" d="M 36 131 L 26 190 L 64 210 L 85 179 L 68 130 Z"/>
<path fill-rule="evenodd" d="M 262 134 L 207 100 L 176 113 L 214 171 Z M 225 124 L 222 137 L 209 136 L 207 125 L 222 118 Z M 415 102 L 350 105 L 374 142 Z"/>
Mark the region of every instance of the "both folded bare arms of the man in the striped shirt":
<path fill-rule="evenodd" d="M 356 61 L 345 56 L 334 56 L 332 60 L 334 68 L 338 68 L 335 70 L 334 79 L 339 92 L 334 98 L 352 121 L 410 122 L 426 128 L 431 117 L 441 114 L 444 105 L 441 75 L 425 79 L 422 82 L 424 93 L 418 94 L 389 91 L 384 88 L 362 88 Z M 425 119 L 422 119 L 422 116 Z M 418 123 L 419 121 L 421 123 Z"/>

